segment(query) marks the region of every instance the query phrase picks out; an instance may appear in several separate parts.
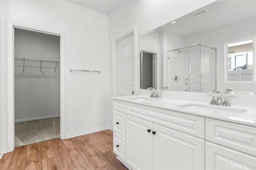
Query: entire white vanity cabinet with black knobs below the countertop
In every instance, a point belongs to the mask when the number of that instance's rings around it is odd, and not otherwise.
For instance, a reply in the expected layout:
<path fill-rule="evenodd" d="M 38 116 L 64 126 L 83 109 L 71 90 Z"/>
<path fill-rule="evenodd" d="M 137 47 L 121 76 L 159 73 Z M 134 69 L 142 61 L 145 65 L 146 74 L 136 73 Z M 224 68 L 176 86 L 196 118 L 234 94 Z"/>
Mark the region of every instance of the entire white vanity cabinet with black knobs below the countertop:
<path fill-rule="evenodd" d="M 114 153 L 130 169 L 256 170 L 256 127 L 114 100 Z"/>

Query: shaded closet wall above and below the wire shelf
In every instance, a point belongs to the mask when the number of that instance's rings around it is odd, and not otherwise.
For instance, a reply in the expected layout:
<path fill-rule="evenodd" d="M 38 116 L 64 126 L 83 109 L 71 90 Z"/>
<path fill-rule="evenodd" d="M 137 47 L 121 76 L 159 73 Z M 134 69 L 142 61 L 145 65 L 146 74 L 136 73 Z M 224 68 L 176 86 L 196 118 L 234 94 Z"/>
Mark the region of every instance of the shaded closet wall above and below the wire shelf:
<path fill-rule="evenodd" d="M 60 61 L 60 37 L 15 29 L 14 57 Z M 16 122 L 59 115 L 60 78 L 14 78 L 14 119 Z"/>

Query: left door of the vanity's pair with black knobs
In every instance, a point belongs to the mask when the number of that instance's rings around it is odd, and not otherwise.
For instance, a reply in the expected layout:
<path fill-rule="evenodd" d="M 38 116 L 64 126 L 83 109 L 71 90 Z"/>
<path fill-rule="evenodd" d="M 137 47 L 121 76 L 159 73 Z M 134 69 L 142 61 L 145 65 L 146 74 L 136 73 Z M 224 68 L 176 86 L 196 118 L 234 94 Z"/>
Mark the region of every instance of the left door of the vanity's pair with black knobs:
<path fill-rule="evenodd" d="M 153 169 L 152 130 L 153 123 L 126 115 L 126 163 L 134 170 Z"/>

